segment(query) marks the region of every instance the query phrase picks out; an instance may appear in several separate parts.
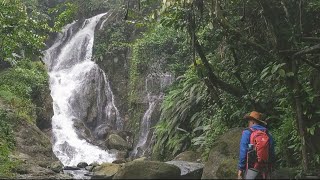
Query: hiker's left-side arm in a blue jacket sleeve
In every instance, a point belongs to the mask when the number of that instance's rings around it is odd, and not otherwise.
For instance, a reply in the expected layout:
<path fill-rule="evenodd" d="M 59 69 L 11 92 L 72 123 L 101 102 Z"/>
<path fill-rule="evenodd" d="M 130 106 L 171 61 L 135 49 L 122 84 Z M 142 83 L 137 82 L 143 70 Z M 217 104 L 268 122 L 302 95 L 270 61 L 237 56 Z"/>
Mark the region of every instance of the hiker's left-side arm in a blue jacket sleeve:
<path fill-rule="evenodd" d="M 248 144 L 250 143 L 250 131 L 244 130 L 242 132 L 242 137 L 240 140 L 240 153 L 239 153 L 239 164 L 238 170 L 244 171 L 246 169 L 246 162 L 247 162 L 247 152 L 248 152 Z"/>

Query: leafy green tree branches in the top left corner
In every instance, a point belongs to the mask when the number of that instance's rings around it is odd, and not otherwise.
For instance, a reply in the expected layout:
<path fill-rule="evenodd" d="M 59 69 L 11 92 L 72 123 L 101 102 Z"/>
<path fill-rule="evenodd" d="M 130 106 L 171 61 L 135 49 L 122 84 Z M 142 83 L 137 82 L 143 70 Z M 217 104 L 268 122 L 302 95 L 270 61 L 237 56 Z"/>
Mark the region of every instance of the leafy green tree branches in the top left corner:
<path fill-rule="evenodd" d="M 46 33 L 47 19 L 33 9 L 28 12 L 21 0 L 0 3 L 0 62 L 15 64 L 23 56 L 39 57 Z"/>

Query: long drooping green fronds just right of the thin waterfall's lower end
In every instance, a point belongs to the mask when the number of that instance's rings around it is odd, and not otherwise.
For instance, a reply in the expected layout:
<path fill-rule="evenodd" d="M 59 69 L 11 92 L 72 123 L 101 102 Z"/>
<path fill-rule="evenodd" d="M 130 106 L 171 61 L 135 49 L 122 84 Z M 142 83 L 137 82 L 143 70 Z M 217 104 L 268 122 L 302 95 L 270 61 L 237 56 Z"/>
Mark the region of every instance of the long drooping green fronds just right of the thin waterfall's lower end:
<path fill-rule="evenodd" d="M 201 109 L 205 104 L 206 86 L 189 70 L 165 96 L 161 106 L 160 122 L 156 126 L 153 153 L 158 157 L 172 158 L 192 145 L 203 144 L 199 132 L 206 132 L 208 115 Z"/>

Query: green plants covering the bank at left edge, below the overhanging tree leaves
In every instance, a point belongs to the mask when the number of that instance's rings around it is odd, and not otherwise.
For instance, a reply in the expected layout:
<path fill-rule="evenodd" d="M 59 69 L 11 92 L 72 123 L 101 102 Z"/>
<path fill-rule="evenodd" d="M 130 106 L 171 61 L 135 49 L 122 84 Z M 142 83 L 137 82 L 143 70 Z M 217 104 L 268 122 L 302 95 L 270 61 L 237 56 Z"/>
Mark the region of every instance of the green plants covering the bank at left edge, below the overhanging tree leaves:
<path fill-rule="evenodd" d="M 40 61 L 23 60 L 0 73 L 0 176 L 13 177 L 19 163 L 10 158 L 15 149 L 13 128 L 17 119 L 35 123 L 33 101 L 46 90 L 47 72 Z M 6 110 L 4 110 L 6 109 Z"/>

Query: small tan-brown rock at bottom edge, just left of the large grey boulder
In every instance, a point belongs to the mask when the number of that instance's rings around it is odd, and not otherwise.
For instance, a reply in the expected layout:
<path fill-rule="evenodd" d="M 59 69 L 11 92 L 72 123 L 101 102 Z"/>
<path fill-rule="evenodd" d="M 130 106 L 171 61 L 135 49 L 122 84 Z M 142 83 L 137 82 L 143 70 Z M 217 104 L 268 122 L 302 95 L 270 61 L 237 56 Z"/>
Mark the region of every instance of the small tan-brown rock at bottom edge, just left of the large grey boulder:
<path fill-rule="evenodd" d="M 119 171 L 121 165 L 112 163 L 102 163 L 100 166 L 95 167 L 92 178 L 112 179 L 112 177 Z"/>

